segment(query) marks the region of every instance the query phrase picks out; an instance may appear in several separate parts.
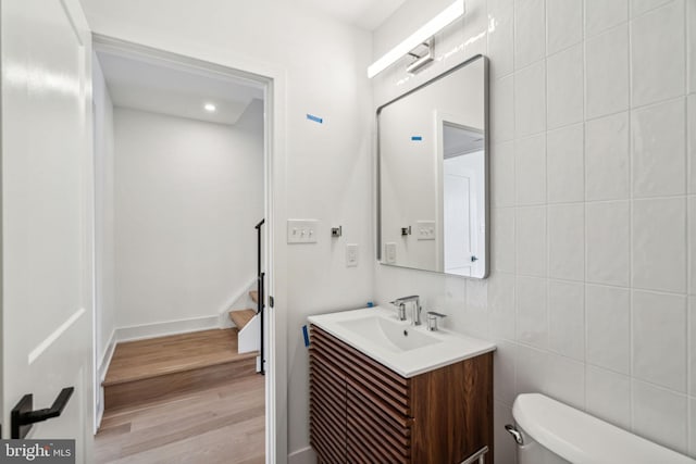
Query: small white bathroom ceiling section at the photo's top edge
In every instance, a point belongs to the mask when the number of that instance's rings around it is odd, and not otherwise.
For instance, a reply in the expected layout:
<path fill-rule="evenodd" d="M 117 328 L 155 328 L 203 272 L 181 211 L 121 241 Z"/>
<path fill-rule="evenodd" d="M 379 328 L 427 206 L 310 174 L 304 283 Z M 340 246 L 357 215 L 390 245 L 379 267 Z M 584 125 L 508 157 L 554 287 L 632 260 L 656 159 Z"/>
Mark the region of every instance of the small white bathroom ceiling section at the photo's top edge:
<path fill-rule="evenodd" d="M 406 0 L 301 0 L 344 23 L 365 30 L 376 29 Z"/>

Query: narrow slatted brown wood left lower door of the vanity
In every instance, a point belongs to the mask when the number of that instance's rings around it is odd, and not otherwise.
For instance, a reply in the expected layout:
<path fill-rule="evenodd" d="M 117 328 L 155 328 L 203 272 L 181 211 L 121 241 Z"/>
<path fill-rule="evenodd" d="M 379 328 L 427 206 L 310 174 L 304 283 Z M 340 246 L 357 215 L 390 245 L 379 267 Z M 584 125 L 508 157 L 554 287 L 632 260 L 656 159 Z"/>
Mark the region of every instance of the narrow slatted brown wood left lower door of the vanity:
<path fill-rule="evenodd" d="M 315 350 L 310 351 L 310 443 L 322 461 L 346 462 L 346 379 Z"/>

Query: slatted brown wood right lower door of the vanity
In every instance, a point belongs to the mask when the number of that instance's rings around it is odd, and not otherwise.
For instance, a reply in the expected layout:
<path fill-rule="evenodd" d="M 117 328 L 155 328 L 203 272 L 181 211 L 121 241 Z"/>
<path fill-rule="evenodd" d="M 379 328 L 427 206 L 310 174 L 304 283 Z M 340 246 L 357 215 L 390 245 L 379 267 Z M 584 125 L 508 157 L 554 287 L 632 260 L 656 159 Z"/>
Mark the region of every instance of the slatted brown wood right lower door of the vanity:
<path fill-rule="evenodd" d="M 387 413 L 378 398 L 366 397 L 350 385 L 346 410 L 348 462 L 411 462 L 410 417 Z"/>

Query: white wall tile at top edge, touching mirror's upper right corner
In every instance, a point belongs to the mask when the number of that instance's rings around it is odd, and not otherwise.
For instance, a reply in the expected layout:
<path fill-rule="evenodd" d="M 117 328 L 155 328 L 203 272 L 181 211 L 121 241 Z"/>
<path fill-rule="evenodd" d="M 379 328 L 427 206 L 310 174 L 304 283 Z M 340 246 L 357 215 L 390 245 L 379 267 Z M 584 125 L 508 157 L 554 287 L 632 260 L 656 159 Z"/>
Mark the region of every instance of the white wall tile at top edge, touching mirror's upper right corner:
<path fill-rule="evenodd" d="M 488 58 L 493 77 L 514 71 L 513 25 L 513 0 L 488 0 Z"/>

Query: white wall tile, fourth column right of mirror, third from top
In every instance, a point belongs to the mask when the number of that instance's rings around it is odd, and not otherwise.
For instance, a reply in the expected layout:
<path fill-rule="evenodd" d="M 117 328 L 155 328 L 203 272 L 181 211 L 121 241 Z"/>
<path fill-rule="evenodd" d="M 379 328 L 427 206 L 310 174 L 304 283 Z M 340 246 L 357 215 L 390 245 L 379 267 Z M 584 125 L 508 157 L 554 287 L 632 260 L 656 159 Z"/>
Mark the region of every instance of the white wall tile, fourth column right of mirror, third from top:
<path fill-rule="evenodd" d="M 588 201 L 625 200 L 631 196 L 629 113 L 585 125 L 585 195 Z"/>

